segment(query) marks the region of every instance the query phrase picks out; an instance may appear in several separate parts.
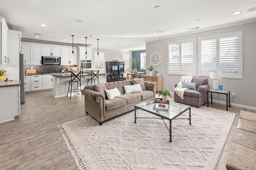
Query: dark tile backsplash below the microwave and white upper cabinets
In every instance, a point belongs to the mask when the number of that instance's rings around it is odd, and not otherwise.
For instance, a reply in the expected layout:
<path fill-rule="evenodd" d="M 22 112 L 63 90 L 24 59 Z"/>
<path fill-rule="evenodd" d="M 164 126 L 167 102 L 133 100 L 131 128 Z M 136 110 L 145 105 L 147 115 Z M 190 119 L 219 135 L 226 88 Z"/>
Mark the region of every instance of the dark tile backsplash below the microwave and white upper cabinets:
<path fill-rule="evenodd" d="M 76 66 L 76 65 L 73 65 Z M 72 65 L 58 65 L 58 64 L 42 64 L 42 65 L 28 65 L 27 68 L 36 69 L 36 73 L 50 73 L 50 72 L 61 72 L 61 69 L 66 69 L 68 71 L 68 67 L 72 67 Z"/>

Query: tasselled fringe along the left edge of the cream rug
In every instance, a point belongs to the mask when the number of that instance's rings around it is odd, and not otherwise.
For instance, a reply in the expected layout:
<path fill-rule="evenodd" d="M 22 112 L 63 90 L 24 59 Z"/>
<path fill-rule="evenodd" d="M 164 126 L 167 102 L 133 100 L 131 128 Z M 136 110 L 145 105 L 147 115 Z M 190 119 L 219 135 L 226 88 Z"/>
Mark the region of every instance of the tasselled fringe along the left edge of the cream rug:
<path fill-rule="evenodd" d="M 80 155 L 78 154 L 76 148 L 74 147 L 74 145 L 72 144 L 68 134 L 66 133 L 66 131 L 64 130 L 64 128 L 62 127 L 62 125 L 59 125 L 58 128 L 60 128 L 60 132 L 62 134 L 63 140 L 65 141 L 68 150 L 70 151 L 72 157 L 74 158 L 75 162 L 76 162 L 76 166 L 79 170 L 88 170 L 84 164 L 84 162 L 82 161 Z"/>

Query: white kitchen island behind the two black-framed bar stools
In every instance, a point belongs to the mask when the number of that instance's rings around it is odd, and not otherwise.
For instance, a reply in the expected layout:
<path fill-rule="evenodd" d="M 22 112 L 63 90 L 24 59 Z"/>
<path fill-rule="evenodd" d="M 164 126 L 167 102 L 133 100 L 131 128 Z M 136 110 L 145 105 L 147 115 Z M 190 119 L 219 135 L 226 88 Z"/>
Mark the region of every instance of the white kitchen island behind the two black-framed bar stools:
<path fill-rule="evenodd" d="M 99 74 L 99 83 L 106 83 L 106 75 L 108 73 L 100 73 Z M 69 80 L 71 79 L 71 74 L 54 74 L 53 77 L 53 95 L 55 98 L 64 97 L 68 93 L 68 84 Z M 72 76 L 73 77 L 73 76 Z M 81 89 L 87 85 L 87 79 L 91 77 L 91 74 L 83 74 L 81 75 Z M 91 85 L 90 81 L 89 84 Z M 74 88 L 77 87 L 76 83 L 73 84 Z M 80 88 L 80 87 L 79 87 Z M 78 94 L 78 92 L 72 92 L 72 95 Z M 68 93 L 70 95 L 70 93 Z"/>

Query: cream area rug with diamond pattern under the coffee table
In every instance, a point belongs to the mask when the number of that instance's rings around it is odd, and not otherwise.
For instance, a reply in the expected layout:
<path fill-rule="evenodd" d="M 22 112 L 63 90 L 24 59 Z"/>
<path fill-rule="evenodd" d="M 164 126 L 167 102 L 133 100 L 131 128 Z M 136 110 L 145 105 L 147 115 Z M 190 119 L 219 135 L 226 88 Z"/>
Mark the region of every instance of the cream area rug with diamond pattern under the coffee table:
<path fill-rule="evenodd" d="M 155 117 L 142 111 L 138 117 Z M 185 112 L 178 118 L 188 118 Z M 187 119 L 172 121 L 172 142 L 162 119 L 137 119 L 134 111 L 102 126 L 90 115 L 60 125 L 78 169 L 214 170 L 235 114 L 191 108 Z M 169 125 L 169 121 L 166 121 Z"/>

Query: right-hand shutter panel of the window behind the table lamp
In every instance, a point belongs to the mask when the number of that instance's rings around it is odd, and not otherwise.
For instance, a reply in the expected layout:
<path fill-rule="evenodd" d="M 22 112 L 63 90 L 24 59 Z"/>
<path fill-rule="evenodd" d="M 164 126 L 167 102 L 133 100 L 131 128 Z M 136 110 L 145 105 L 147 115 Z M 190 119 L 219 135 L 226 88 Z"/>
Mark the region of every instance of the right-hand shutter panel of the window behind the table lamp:
<path fill-rule="evenodd" d="M 238 74 L 238 36 L 220 38 L 220 72 Z"/>

